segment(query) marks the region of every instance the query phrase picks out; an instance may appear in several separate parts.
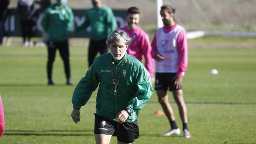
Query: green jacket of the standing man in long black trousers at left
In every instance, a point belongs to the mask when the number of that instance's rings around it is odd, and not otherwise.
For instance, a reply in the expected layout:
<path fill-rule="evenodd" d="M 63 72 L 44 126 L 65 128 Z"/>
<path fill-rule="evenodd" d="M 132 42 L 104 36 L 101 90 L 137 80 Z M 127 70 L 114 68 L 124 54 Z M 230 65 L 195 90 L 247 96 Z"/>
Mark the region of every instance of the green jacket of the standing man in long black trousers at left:
<path fill-rule="evenodd" d="M 53 4 L 45 9 L 41 25 L 48 34 L 47 41 L 61 42 L 69 38 L 73 23 L 73 12 L 66 5 Z"/>

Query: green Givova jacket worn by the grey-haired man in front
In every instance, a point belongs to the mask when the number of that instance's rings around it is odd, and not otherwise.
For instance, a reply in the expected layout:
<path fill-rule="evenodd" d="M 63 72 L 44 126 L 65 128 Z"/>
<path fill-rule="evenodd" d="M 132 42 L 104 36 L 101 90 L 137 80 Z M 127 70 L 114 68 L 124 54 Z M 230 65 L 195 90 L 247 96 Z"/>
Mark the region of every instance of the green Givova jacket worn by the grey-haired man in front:
<path fill-rule="evenodd" d="M 127 62 L 124 65 L 125 61 Z M 110 64 L 115 83 L 121 75 L 116 94 Z M 125 122 L 134 122 L 137 118 L 136 111 L 141 110 L 153 94 L 150 74 L 139 60 L 127 53 L 118 64 L 112 61 L 110 53 L 100 55 L 94 60 L 74 90 L 73 108 L 80 109 L 84 106 L 98 84 L 96 114 L 113 121 L 118 112 L 129 108 L 132 113 Z"/>

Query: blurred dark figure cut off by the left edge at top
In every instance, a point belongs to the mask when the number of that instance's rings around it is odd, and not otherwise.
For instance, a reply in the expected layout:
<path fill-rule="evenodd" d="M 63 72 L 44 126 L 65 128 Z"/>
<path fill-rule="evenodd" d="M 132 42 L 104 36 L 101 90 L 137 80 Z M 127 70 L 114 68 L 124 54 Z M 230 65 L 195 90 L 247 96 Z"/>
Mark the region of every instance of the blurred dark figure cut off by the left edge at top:
<path fill-rule="evenodd" d="M 10 0 L 1 0 L 0 5 L 0 45 L 2 45 L 2 38 L 4 36 L 5 28 L 5 18 L 7 14 L 7 6 L 9 5 Z"/>

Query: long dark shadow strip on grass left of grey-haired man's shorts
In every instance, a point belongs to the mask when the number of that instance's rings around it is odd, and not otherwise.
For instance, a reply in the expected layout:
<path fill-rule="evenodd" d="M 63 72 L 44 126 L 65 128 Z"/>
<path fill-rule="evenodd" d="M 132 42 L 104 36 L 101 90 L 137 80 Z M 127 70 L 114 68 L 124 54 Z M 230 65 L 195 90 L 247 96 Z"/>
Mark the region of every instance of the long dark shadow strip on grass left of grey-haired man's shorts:
<path fill-rule="evenodd" d="M 94 130 L 5 130 L 4 135 L 94 136 Z"/>

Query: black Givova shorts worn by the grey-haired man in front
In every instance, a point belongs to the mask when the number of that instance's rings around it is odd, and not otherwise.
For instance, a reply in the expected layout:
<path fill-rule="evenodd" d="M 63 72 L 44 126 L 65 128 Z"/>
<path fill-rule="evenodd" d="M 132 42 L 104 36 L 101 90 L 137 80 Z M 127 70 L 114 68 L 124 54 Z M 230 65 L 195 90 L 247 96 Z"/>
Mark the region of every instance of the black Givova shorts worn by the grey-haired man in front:
<path fill-rule="evenodd" d="M 117 123 L 115 121 L 95 115 L 94 134 L 113 135 L 119 142 L 132 143 L 134 139 L 139 138 L 138 122 Z"/>

